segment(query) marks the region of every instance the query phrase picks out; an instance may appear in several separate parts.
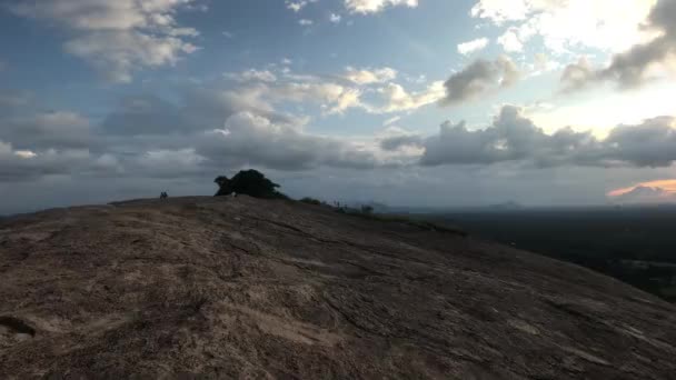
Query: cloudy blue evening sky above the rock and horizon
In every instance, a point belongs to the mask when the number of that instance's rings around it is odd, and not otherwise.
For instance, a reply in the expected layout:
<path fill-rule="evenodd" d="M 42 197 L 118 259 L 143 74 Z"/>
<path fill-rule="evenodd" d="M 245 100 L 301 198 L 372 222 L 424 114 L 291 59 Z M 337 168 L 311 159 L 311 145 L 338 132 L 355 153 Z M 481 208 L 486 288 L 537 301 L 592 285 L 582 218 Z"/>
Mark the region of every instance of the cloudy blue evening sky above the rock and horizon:
<path fill-rule="evenodd" d="M 0 0 L 0 213 L 676 201 L 676 0 Z"/>

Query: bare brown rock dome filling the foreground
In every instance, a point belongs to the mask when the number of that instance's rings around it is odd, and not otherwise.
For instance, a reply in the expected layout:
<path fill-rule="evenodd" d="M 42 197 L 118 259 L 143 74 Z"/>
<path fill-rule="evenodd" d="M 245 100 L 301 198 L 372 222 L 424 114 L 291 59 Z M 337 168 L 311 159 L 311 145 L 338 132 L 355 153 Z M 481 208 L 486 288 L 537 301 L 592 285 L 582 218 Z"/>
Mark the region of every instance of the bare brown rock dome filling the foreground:
<path fill-rule="evenodd" d="M 248 197 L 0 221 L 0 378 L 674 379 L 676 308 L 451 232 Z"/>

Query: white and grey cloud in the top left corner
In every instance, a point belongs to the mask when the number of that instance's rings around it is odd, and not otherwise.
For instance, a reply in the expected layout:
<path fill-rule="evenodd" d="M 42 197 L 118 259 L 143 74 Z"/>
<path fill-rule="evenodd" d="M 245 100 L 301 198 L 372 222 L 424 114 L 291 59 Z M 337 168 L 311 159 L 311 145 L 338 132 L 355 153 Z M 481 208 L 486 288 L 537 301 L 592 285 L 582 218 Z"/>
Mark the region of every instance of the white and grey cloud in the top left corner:
<path fill-rule="evenodd" d="M 175 14 L 197 0 L 22 0 L 9 9 L 18 16 L 53 21 L 72 31 L 64 50 L 88 61 L 111 82 L 130 82 L 145 68 L 171 66 L 198 48 L 198 36 Z"/>

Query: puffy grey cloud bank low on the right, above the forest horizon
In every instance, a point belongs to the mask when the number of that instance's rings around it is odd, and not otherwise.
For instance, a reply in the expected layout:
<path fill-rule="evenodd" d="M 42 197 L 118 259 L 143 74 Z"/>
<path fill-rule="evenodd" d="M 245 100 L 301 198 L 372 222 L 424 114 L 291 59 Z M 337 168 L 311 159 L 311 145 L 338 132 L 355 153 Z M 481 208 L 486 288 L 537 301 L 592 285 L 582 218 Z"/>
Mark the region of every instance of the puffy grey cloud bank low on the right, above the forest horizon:
<path fill-rule="evenodd" d="M 441 124 L 439 133 L 420 142 L 424 166 L 491 164 L 528 161 L 538 167 L 669 167 L 676 161 L 676 123 L 672 117 L 637 126 L 618 126 L 605 140 L 570 128 L 547 134 L 521 109 L 505 106 L 486 129 L 465 122 Z"/>

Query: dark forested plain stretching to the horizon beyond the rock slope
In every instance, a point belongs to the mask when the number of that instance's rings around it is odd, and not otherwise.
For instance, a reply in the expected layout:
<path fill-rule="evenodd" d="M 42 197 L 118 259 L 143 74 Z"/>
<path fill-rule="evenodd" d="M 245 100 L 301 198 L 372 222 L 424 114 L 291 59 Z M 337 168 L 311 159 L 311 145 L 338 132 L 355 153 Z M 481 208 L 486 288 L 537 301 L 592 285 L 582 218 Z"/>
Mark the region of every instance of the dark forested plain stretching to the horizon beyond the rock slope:
<path fill-rule="evenodd" d="M 676 302 L 676 208 L 430 216 L 468 232 L 570 261 Z"/>

